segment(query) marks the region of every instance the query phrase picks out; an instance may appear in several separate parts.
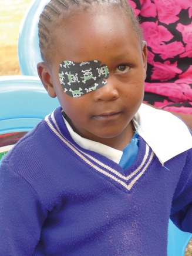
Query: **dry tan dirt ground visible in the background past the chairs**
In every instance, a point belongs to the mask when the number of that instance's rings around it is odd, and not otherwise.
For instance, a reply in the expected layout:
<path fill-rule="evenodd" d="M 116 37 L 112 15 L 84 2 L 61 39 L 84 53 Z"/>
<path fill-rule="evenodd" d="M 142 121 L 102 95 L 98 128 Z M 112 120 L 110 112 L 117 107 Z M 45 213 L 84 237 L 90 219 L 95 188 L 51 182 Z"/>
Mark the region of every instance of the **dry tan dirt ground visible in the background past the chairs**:
<path fill-rule="evenodd" d="M 0 76 L 21 75 L 17 50 L 19 26 L 30 2 L 31 0 L 0 0 Z M 185 256 L 187 255 L 192 255 L 192 242 L 187 247 Z"/>

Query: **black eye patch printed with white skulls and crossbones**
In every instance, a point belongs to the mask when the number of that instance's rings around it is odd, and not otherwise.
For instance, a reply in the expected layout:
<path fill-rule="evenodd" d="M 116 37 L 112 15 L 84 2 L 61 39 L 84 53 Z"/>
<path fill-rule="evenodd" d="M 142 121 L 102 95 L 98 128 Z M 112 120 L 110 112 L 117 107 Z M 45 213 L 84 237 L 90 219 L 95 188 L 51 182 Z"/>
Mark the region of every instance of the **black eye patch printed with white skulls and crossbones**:
<path fill-rule="evenodd" d="M 107 84 L 109 69 L 100 61 L 63 61 L 59 67 L 59 80 L 63 91 L 78 98 Z"/>

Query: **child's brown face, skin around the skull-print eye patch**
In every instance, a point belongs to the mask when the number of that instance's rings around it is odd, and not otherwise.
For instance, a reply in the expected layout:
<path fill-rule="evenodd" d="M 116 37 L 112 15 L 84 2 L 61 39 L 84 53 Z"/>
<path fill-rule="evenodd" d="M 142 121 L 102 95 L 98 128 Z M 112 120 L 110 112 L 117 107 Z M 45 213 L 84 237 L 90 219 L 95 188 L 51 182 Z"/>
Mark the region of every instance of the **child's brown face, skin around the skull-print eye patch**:
<path fill-rule="evenodd" d="M 89 9 L 73 15 L 56 29 L 55 36 L 51 67 L 38 69 L 49 95 L 58 97 L 73 129 L 105 144 L 122 136 L 124 140 L 132 137 L 131 121 L 143 101 L 147 56 L 146 45 L 141 46 L 129 19 L 102 6 L 99 11 Z M 79 98 L 67 95 L 59 81 L 60 63 L 93 60 L 109 68 L 107 84 Z"/>

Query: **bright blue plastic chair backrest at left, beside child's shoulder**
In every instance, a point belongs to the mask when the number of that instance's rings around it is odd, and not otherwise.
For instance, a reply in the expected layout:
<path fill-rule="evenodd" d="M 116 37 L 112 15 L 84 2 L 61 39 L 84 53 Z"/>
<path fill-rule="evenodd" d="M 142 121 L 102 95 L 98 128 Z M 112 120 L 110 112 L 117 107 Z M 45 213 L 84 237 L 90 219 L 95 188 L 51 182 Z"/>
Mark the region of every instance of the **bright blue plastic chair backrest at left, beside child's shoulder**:
<path fill-rule="evenodd" d="M 59 105 L 38 77 L 0 77 L 0 163 L 19 138 Z"/>

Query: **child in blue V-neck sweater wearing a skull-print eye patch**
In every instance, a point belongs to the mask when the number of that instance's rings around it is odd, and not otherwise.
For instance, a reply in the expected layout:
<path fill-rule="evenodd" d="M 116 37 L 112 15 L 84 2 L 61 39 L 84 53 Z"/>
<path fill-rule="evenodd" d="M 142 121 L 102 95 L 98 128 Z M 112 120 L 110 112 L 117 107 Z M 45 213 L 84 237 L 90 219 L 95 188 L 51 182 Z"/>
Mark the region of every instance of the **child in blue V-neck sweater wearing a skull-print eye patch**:
<path fill-rule="evenodd" d="M 52 0 L 38 74 L 61 107 L 1 165 L 1 255 L 167 255 L 192 232 L 192 140 L 143 105 L 147 51 L 124 0 Z"/>

